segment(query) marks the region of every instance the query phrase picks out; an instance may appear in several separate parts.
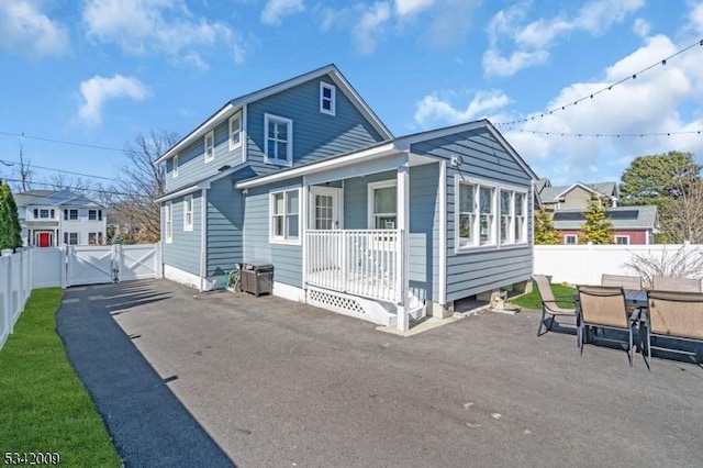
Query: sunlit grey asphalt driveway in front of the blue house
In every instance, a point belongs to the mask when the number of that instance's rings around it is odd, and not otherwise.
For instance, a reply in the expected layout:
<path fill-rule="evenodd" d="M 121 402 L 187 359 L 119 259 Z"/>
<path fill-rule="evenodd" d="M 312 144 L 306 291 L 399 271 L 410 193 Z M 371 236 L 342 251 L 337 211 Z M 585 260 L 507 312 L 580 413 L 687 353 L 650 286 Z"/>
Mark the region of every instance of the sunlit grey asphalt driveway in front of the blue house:
<path fill-rule="evenodd" d="M 655 359 L 649 371 L 636 355 L 631 368 L 606 346 L 579 356 L 568 327 L 535 336 L 535 312 L 484 313 L 403 338 L 275 297 L 129 285 L 69 289 L 66 300 L 114 298 L 101 313 L 116 313 L 129 344 L 237 466 L 703 459 L 701 367 Z M 203 466 L 222 461 L 211 454 L 203 449 Z"/>

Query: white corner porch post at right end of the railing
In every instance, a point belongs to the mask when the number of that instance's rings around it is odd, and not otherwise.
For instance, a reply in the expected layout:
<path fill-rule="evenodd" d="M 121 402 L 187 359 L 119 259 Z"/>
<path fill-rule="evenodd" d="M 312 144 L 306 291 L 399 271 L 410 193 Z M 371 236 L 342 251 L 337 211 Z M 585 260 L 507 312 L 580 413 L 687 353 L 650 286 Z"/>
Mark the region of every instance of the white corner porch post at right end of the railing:
<path fill-rule="evenodd" d="M 410 311 L 408 310 L 408 238 L 410 231 L 410 153 L 405 153 L 405 160 L 398 167 L 398 229 L 400 248 L 397 253 L 395 265 L 400 274 L 400 303 L 398 304 L 398 330 L 410 330 Z"/>

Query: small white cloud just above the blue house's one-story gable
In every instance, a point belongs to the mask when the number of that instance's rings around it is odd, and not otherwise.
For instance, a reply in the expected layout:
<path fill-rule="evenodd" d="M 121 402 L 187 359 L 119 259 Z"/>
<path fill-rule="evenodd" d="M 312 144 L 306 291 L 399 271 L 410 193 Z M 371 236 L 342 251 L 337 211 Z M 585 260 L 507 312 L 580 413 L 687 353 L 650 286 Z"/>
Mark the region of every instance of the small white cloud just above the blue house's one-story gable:
<path fill-rule="evenodd" d="M 453 98 L 455 96 L 450 92 L 445 92 L 444 96 L 438 93 L 425 96 L 415 105 L 415 123 L 427 129 L 468 122 L 486 118 L 487 112 L 494 112 L 511 102 L 507 96 L 496 90 L 477 92 L 464 109 L 454 107 Z"/>

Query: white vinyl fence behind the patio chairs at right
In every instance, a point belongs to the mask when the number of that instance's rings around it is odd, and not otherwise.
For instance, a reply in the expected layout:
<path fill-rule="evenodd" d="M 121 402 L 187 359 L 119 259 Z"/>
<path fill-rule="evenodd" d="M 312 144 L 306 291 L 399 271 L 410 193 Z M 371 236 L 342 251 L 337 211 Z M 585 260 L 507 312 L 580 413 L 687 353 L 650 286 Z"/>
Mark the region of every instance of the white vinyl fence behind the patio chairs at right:
<path fill-rule="evenodd" d="M 703 255 L 700 244 L 661 245 L 535 245 L 534 272 L 550 275 L 553 282 L 599 285 L 602 274 L 636 275 L 625 266 L 636 255 L 652 259 L 671 258 L 684 249 L 684 258 L 693 261 Z M 702 277 L 703 271 L 696 277 Z"/>

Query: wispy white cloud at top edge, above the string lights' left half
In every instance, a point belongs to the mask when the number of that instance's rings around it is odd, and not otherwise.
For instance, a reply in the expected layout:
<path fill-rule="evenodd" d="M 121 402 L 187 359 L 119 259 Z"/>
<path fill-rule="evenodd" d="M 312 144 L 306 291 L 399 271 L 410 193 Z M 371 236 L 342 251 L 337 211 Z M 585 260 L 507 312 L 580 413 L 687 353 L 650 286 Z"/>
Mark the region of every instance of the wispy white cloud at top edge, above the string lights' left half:
<path fill-rule="evenodd" d="M 517 3 L 499 11 L 488 25 L 490 46 L 483 55 L 483 71 L 511 76 L 521 69 L 547 62 L 549 49 L 565 34 L 584 31 L 600 35 L 613 24 L 622 22 L 644 4 L 644 0 L 594 0 L 584 4 L 576 15 L 559 13 L 523 25 L 531 3 Z M 571 18 L 572 16 L 572 18 Z M 501 43 L 512 42 L 515 49 L 505 56 Z"/>

